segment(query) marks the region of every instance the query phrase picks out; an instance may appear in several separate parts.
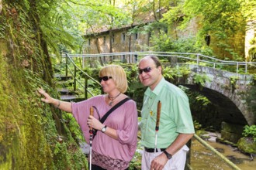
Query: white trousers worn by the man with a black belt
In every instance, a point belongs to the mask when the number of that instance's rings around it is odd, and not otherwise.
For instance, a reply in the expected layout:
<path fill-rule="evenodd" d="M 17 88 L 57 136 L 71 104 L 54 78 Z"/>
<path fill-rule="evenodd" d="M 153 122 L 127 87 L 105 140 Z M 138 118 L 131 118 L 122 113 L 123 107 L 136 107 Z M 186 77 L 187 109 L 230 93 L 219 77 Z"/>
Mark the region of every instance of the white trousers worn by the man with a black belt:
<path fill-rule="evenodd" d="M 184 170 L 185 160 L 189 148 L 184 145 L 172 158 L 166 163 L 163 170 Z M 157 152 L 155 156 L 161 155 L 162 152 Z M 154 159 L 154 152 L 149 153 L 144 150 L 141 160 L 141 170 L 149 170 L 152 160 Z"/>

